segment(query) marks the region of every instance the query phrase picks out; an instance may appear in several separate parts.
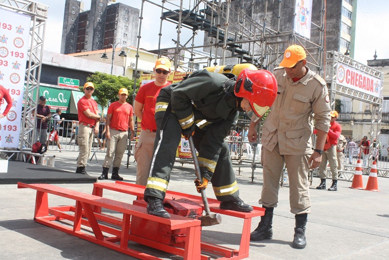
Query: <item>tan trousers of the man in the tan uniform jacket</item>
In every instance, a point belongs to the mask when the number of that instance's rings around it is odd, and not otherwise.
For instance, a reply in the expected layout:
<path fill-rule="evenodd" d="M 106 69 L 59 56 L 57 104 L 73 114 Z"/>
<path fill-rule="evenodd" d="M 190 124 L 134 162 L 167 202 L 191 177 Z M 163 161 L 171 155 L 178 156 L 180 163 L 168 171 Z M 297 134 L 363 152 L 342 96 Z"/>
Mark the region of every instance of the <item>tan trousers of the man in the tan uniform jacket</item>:
<path fill-rule="evenodd" d="M 277 207 L 278 191 L 286 165 L 289 177 L 289 204 L 293 214 L 311 213 L 311 200 L 308 185 L 308 160 L 310 154 L 281 155 L 278 144 L 273 151 L 262 149 L 264 165 L 264 184 L 259 204 L 266 207 Z"/>

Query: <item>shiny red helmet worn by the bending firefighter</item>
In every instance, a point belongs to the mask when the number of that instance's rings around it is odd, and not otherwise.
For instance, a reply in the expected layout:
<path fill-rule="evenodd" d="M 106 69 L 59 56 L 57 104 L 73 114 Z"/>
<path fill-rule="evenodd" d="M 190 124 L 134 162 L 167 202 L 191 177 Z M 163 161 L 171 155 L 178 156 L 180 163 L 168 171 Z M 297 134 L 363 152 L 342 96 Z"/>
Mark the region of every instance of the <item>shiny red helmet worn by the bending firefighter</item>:
<path fill-rule="evenodd" d="M 277 81 L 266 70 L 244 69 L 235 84 L 234 93 L 250 102 L 252 111 L 261 118 L 277 96 Z"/>

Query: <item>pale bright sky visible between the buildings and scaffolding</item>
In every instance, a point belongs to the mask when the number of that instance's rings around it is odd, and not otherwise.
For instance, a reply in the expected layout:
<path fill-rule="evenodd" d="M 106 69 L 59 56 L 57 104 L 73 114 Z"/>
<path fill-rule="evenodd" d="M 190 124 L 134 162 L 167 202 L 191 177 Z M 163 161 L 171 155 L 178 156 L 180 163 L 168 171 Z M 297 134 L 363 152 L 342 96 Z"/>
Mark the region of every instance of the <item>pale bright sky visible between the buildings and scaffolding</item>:
<path fill-rule="evenodd" d="M 389 59 L 389 0 L 357 0 L 357 21 L 354 59 L 366 64 L 366 60 L 373 59 L 374 51 L 377 50 L 378 59 Z M 46 37 L 44 49 L 53 52 L 60 52 L 64 0 L 37 0 L 37 2 L 49 5 L 49 18 L 46 23 Z M 85 0 L 85 9 L 90 7 L 90 0 Z M 141 0 L 117 0 L 140 8 Z M 160 3 L 160 0 L 156 0 Z M 174 1 L 179 4 L 179 1 Z M 192 5 L 193 5 L 193 1 Z M 150 3 L 145 3 L 145 12 L 142 20 L 141 48 L 157 49 L 159 33 L 160 8 Z M 157 14 L 157 15 L 156 15 Z M 146 33 L 147 32 L 147 33 Z M 153 33 L 154 32 L 154 33 Z M 162 42 L 162 47 L 173 47 L 172 38 L 177 38 L 175 26 L 169 22 L 163 23 L 163 38 L 168 39 Z M 328 34 L 329 32 L 327 32 Z M 184 41 L 188 37 L 182 38 Z M 196 37 L 201 45 L 202 36 Z"/>

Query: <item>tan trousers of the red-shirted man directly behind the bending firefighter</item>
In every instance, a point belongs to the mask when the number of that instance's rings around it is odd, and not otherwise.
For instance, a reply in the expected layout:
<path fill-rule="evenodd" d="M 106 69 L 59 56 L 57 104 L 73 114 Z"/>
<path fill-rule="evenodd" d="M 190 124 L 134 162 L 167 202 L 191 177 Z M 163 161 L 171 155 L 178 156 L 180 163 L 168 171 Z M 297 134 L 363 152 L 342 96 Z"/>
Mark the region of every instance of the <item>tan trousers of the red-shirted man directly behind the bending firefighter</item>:
<path fill-rule="evenodd" d="M 147 178 L 150 172 L 150 162 L 153 158 L 155 132 L 141 130 L 138 143 L 135 147 L 134 157 L 137 161 L 136 184 L 147 185 Z"/>

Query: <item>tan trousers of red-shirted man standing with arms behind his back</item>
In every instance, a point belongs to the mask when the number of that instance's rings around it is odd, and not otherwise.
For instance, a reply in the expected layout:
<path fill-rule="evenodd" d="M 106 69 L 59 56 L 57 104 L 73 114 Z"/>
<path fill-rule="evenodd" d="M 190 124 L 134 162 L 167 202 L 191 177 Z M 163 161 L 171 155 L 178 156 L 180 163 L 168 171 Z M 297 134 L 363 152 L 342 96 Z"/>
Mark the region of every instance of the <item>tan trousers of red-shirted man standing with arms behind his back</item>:
<path fill-rule="evenodd" d="M 106 140 L 106 158 L 103 167 L 119 167 L 122 165 L 122 158 L 127 147 L 128 131 L 110 129 L 111 138 Z"/>

